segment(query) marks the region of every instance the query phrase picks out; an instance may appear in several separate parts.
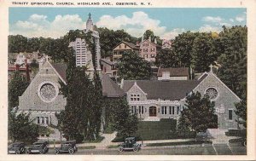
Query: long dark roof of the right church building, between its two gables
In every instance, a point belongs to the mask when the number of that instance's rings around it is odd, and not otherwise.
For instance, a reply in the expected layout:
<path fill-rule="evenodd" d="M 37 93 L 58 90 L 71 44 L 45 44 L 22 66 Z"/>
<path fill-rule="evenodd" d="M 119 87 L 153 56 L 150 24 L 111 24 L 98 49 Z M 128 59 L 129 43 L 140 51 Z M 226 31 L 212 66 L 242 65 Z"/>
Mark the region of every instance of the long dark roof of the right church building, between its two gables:
<path fill-rule="evenodd" d="M 180 100 L 186 97 L 200 80 L 125 80 L 123 89 L 127 92 L 134 84 L 146 93 L 148 99 Z"/>

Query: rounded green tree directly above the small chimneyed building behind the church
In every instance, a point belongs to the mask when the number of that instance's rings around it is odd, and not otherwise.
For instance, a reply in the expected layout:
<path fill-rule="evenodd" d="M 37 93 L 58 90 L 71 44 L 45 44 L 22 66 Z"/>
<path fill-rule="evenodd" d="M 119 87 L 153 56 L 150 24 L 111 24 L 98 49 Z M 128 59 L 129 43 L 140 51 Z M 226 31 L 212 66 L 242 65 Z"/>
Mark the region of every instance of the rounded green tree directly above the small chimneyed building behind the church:
<path fill-rule="evenodd" d="M 155 57 L 155 65 L 160 67 L 177 67 L 177 55 L 172 49 L 161 49 L 160 53 Z"/>

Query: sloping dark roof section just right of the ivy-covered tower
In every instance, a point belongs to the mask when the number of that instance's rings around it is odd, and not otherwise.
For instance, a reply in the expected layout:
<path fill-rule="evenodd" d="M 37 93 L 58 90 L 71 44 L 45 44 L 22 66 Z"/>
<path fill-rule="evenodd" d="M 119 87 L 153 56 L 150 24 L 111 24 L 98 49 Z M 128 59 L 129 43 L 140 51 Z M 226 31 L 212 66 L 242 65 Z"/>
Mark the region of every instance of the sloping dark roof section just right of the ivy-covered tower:
<path fill-rule="evenodd" d="M 117 83 L 114 83 L 107 74 L 102 74 L 102 95 L 107 97 L 120 97 L 125 95 L 123 89 L 120 89 Z"/>

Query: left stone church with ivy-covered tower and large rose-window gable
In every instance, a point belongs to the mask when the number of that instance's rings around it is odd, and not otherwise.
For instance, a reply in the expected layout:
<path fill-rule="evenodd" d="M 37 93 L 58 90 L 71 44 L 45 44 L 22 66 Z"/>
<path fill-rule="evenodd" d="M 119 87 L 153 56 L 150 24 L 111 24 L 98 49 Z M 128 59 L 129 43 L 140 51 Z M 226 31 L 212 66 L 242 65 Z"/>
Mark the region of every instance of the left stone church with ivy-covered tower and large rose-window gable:
<path fill-rule="evenodd" d="M 99 65 L 100 60 L 100 48 L 99 48 L 99 35 L 96 31 L 93 31 L 93 23 L 91 18 L 87 20 L 85 31 L 92 31 L 93 37 L 96 37 L 96 71 L 101 74 L 101 67 Z M 76 42 L 78 42 L 76 39 Z M 80 39 L 81 40 L 81 39 Z M 76 44 L 76 43 L 75 43 Z M 89 63 L 87 70 L 88 74 L 93 74 L 94 68 L 92 66 L 92 56 L 90 50 L 86 49 L 81 55 L 85 55 L 85 60 Z M 73 46 L 76 49 L 76 45 Z M 75 50 L 77 66 L 88 66 L 88 64 L 81 64 L 79 60 L 79 49 Z M 80 63 L 80 64 L 79 64 Z M 60 93 L 62 83 L 67 83 L 66 79 L 67 65 L 63 63 L 52 63 L 48 56 L 42 58 L 39 61 L 39 72 L 32 79 L 25 92 L 19 97 L 18 112 L 30 113 L 31 119 L 35 124 L 41 126 L 49 126 L 49 124 L 57 125 L 57 118 L 55 113 L 59 113 L 65 109 L 67 99 Z M 116 83 L 113 83 L 112 79 L 107 75 L 102 75 L 102 95 L 106 97 L 119 97 L 124 95 L 123 90 L 119 89 Z M 40 136 L 40 139 L 46 139 L 45 136 Z M 47 138 L 48 139 L 48 138 Z M 49 140 L 59 140 L 60 131 L 54 129 L 54 134 L 49 135 Z"/>

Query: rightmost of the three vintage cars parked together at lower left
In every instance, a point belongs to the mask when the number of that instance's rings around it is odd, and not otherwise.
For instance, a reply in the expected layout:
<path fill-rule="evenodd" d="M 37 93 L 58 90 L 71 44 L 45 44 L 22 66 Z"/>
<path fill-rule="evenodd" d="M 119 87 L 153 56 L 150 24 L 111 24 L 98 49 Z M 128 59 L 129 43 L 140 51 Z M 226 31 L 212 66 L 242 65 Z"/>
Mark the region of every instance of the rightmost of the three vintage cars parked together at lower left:
<path fill-rule="evenodd" d="M 69 152 L 73 154 L 78 151 L 78 147 L 76 147 L 76 141 L 65 141 L 61 143 L 61 147 L 55 148 L 55 154 Z"/>

